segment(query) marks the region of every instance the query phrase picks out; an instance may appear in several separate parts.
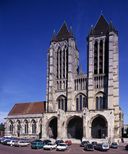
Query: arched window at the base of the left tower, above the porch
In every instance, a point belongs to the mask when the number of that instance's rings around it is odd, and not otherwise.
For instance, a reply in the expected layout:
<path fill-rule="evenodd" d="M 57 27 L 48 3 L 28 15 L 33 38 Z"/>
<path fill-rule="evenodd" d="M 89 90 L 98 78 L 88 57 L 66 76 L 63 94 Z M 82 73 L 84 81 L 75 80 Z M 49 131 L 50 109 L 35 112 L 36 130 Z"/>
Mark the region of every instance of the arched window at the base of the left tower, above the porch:
<path fill-rule="evenodd" d="M 67 111 L 67 99 L 65 96 L 59 96 L 57 102 L 58 102 L 58 109 Z"/>

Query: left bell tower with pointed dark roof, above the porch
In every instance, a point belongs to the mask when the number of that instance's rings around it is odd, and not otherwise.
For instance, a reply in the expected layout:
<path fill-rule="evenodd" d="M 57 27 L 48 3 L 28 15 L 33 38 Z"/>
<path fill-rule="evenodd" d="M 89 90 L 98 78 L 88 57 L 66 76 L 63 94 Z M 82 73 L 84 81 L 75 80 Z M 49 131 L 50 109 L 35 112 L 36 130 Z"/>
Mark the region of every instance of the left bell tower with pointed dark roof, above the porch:
<path fill-rule="evenodd" d="M 79 53 L 75 38 L 64 22 L 54 33 L 47 61 L 47 112 L 73 109 L 74 78 L 77 75 Z"/>

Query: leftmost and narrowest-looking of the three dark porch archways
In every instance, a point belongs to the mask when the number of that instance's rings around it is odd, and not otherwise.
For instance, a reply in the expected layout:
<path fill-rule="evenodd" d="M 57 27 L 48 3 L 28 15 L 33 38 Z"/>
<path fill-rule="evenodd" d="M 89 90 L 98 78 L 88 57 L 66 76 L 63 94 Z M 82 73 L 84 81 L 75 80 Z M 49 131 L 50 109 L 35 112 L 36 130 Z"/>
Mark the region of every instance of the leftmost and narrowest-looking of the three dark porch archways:
<path fill-rule="evenodd" d="M 54 139 L 57 138 L 57 117 L 53 117 L 50 120 L 47 133 L 48 133 L 48 137 L 54 138 Z"/>

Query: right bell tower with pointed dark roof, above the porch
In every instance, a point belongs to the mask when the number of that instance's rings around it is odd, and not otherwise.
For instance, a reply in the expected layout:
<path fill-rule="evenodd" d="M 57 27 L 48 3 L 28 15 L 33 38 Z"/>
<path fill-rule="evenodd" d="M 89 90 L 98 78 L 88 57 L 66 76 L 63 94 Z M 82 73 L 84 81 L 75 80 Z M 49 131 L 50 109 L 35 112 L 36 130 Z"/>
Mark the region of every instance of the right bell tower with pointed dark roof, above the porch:
<path fill-rule="evenodd" d="M 118 104 L 118 32 L 101 15 L 88 36 L 88 106 L 107 110 Z"/>

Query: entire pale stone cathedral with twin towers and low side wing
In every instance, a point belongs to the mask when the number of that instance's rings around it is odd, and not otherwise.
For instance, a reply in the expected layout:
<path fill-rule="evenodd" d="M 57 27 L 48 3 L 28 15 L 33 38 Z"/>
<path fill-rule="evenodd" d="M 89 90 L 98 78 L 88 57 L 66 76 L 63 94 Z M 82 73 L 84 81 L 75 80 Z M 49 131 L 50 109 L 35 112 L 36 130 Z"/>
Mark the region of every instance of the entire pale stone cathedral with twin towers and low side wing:
<path fill-rule="evenodd" d="M 83 73 L 75 37 L 64 23 L 47 53 L 46 102 L 15 104 L 6 118 L 6 135 L 119 140 L 118 54 L 118 31 L 101 15 L 87 36 Z"/>

